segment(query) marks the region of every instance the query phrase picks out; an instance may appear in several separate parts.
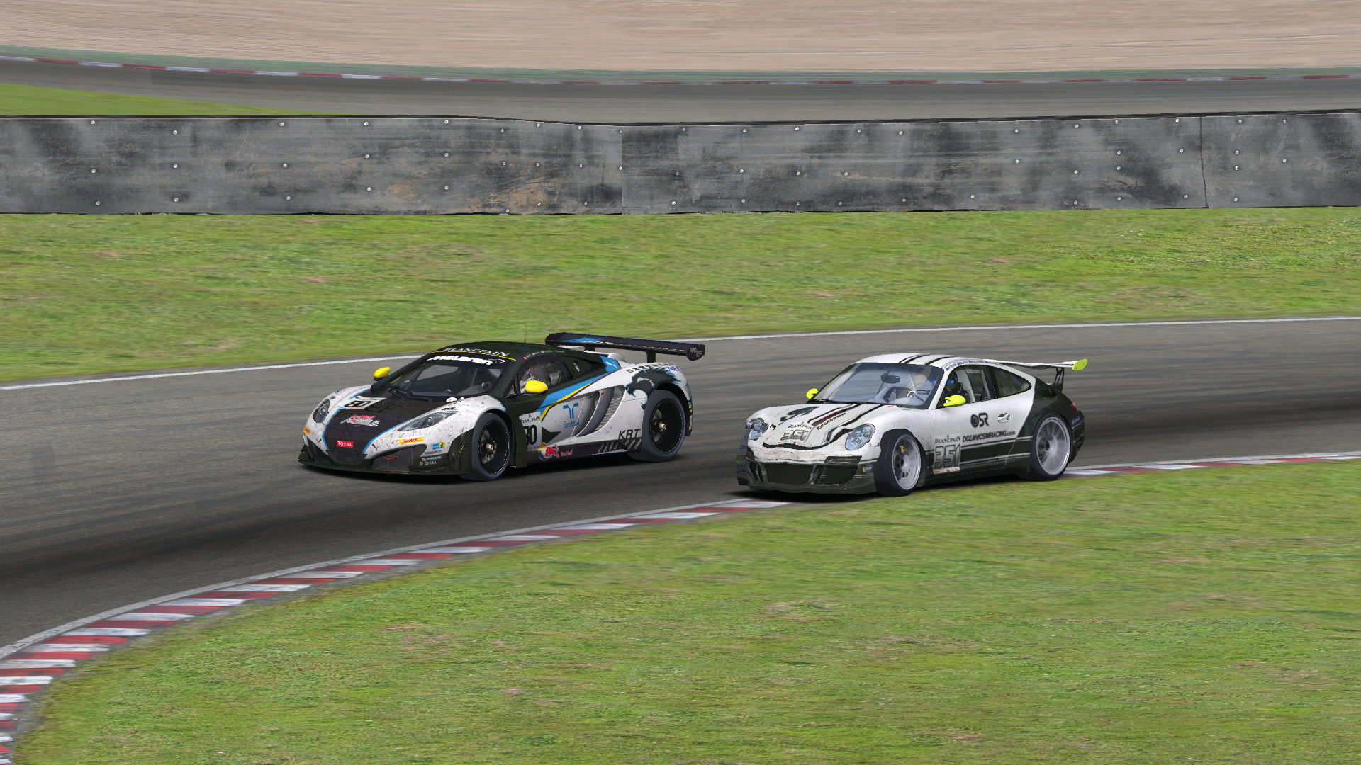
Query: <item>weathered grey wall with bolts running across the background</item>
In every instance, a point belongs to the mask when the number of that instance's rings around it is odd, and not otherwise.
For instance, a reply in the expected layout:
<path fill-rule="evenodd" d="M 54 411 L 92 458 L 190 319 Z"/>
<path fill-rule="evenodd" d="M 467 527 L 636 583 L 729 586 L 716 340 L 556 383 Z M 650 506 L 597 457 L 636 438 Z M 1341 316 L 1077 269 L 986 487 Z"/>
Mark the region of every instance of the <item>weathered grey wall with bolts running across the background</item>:
<path fill-rule="evenodd" d="M 1358 152 L 1356 113 L 778 125 L 11 117 L 0 118 L 0 212 L 1354 206 Z"/>

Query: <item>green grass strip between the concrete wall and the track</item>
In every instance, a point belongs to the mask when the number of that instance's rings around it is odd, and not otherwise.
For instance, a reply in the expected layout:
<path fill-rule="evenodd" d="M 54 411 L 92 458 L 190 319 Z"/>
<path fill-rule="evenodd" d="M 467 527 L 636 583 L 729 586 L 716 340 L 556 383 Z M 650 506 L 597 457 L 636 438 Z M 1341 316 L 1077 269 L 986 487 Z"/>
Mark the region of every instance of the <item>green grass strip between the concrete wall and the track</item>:
<path fill-rule="evenodd" d="M 634 336 L 1361 309 L 1353 208 L 0 216 L 0 378 Z"/>

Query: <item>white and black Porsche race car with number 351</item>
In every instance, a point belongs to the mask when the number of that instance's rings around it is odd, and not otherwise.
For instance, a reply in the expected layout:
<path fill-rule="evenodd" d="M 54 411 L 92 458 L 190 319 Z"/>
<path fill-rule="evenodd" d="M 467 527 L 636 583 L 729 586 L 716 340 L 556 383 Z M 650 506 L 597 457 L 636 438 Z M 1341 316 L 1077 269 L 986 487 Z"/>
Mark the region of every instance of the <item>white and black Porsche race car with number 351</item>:
<path fill-rule="evenodd" d="M 1051 481 L 1086 425 L 1063 373 L 1086 359 L 1032 363 L 885 354 L 841 370 L 807 403 L 747 421 L 738 483 L 815 494 L 909 494 L 917 486 L 1018 474 Z M 1052 369 L 1053 382 L 1025 370 Z"/>

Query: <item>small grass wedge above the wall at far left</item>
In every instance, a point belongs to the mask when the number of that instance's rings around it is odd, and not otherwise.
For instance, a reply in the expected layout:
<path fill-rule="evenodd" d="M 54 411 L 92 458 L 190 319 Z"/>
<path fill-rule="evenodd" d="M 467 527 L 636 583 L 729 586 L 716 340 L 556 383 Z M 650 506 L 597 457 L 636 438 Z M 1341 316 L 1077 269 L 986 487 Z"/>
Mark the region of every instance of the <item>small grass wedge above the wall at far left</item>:
<path fill-rule="evenodd" d="M 0 114 L 151 114 L 195 117 L 200 114 L 327 114 L 268 106 L 182 101 L 150 95 L 116 95 L 0 83 Z"/>

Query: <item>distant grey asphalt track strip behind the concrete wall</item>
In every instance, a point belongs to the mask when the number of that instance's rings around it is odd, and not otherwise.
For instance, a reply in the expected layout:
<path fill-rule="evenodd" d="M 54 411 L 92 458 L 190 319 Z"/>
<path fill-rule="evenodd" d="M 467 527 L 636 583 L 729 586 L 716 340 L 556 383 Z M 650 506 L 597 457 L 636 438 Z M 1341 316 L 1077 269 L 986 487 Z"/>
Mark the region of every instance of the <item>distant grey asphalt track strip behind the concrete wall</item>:
<path fill-rule="evenodd" d="M 0 82 L 340 114 L 759 123 L 1356 109 L 1361 79 L 1053 84 L 565 86 L 158 72 L 0 61 Z"/>

